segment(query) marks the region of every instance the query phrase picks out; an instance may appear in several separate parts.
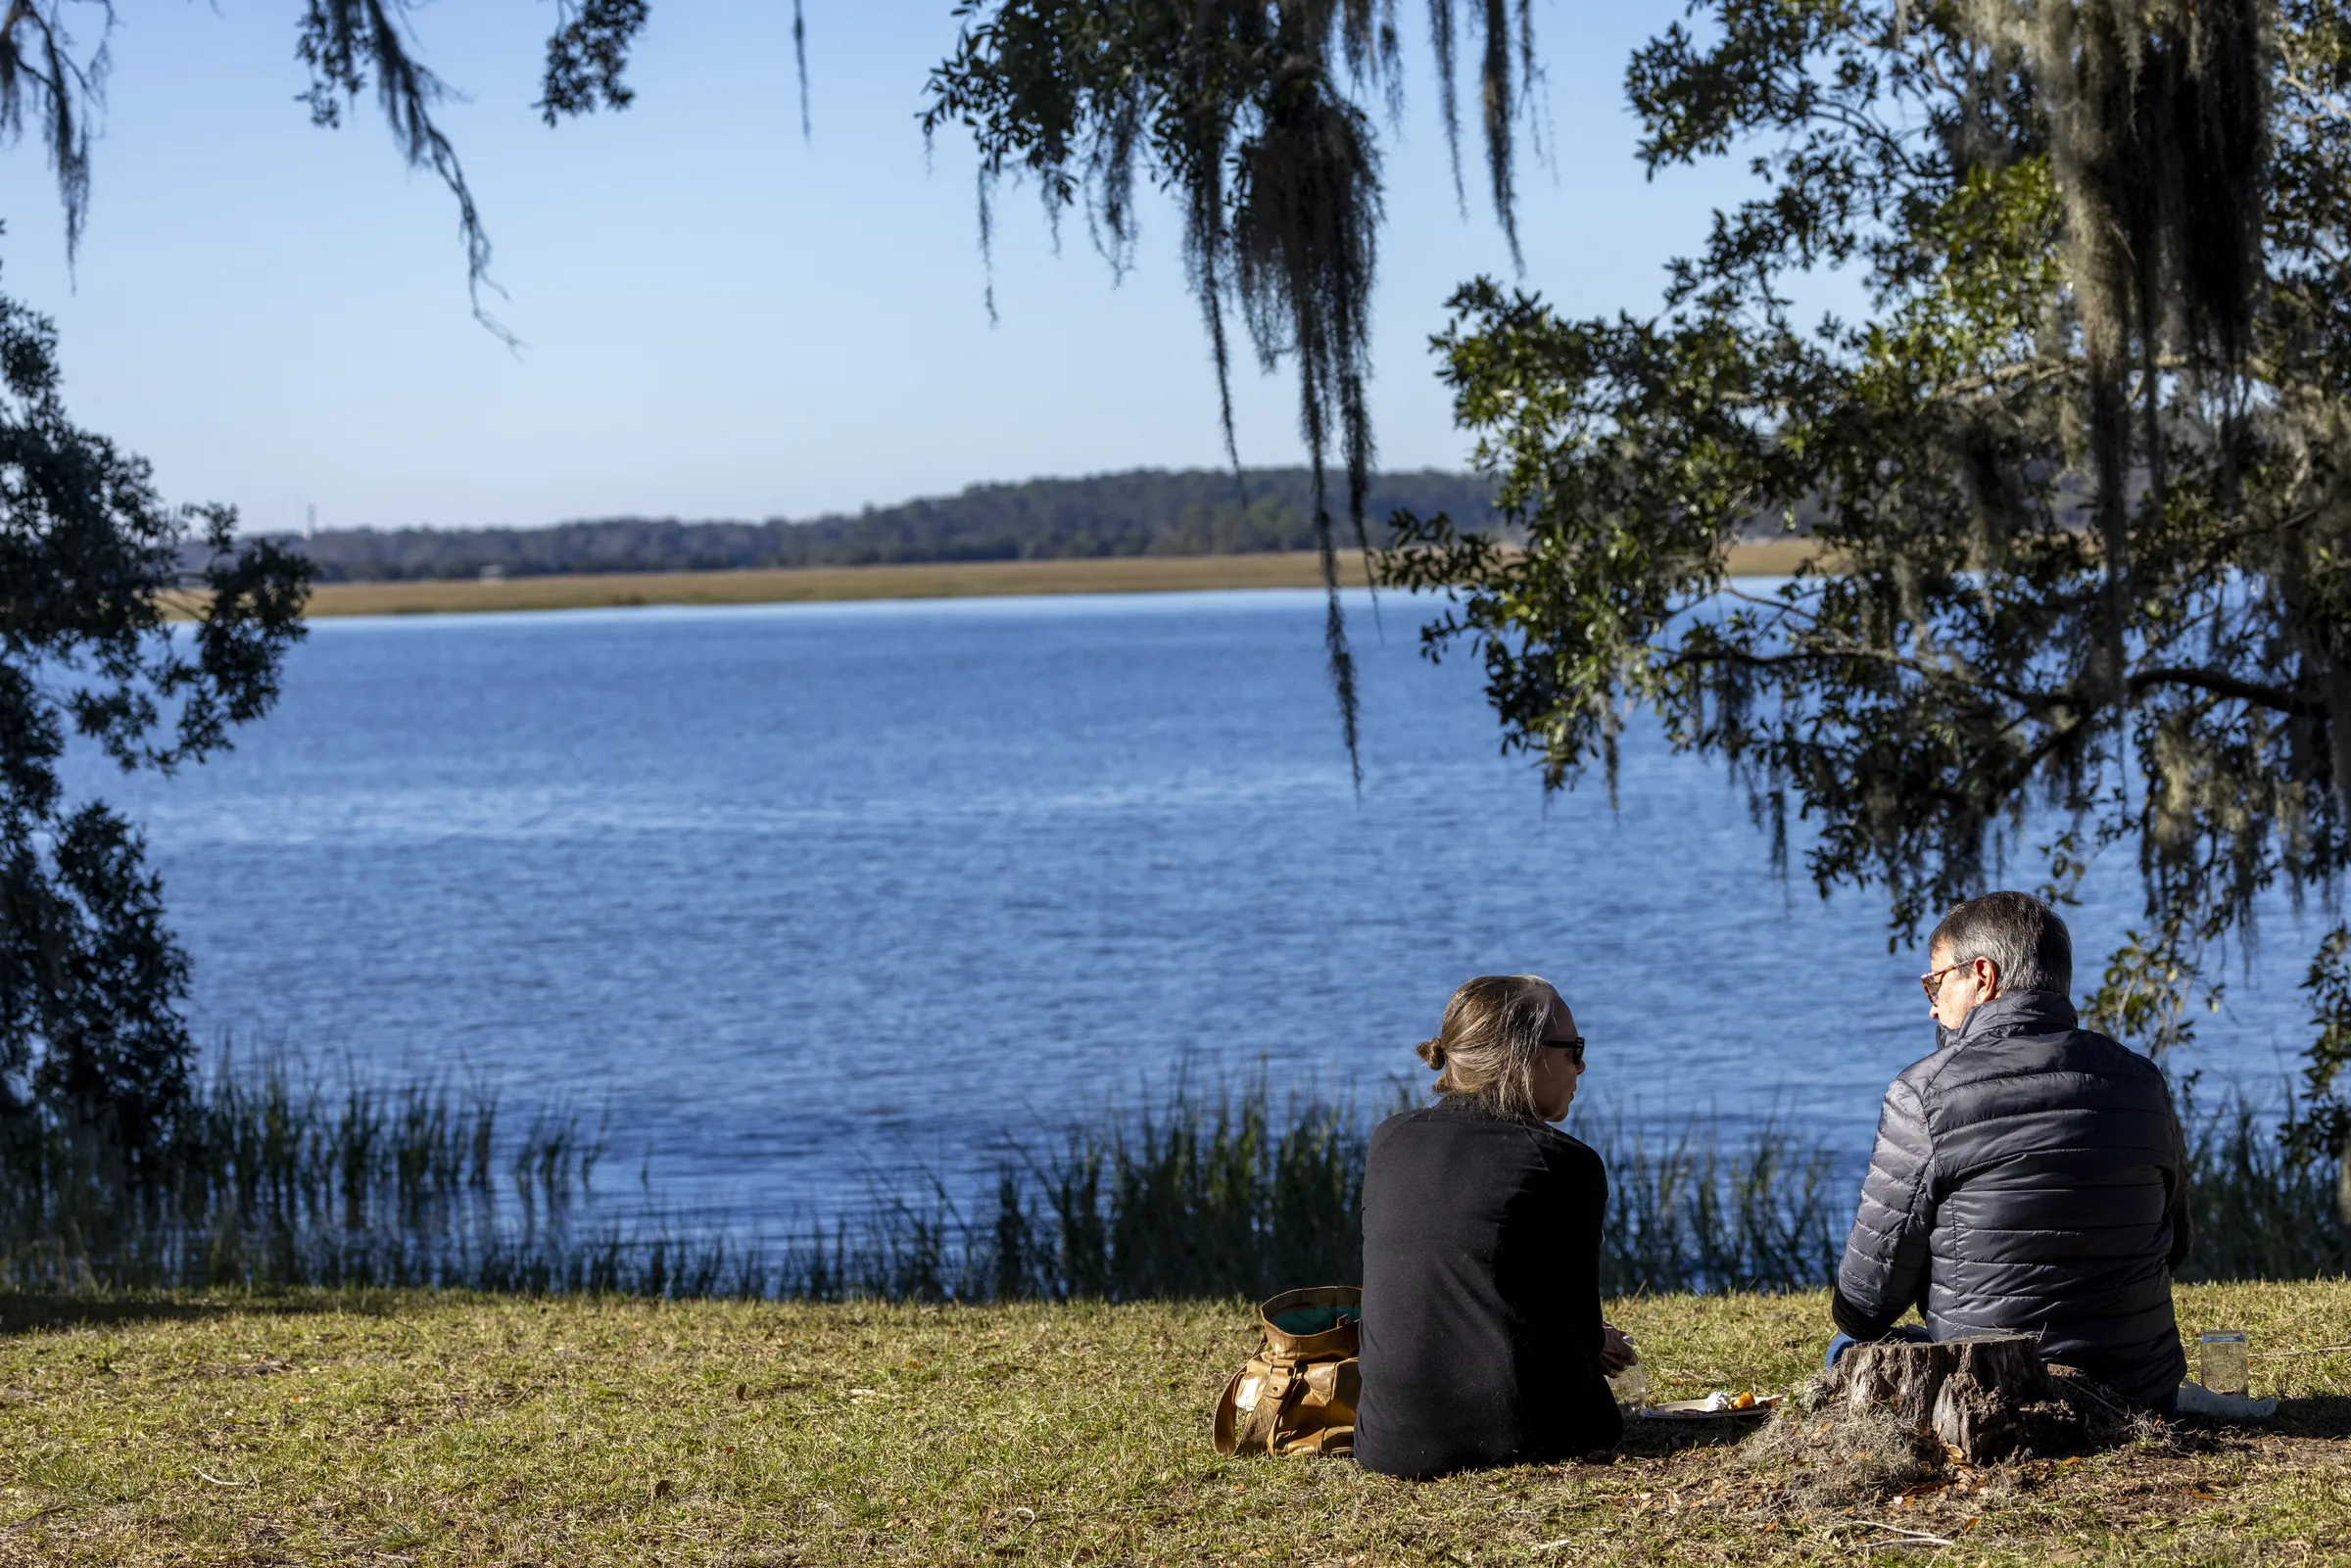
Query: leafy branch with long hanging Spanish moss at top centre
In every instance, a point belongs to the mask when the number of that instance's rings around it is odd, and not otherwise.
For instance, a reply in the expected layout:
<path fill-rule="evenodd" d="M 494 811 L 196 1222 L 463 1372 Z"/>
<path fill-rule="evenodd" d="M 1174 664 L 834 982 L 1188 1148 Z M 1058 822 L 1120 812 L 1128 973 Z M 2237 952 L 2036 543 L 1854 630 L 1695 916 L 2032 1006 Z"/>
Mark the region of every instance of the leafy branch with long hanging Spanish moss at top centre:
<path fill-rule="evenodd" d="M 1439 108 L 1460 165 L 1453 99 L 1465 0 L 1429 0 Z M 931 73 L 924 134 L 971 132 L 987 186 L 1030 176 L 1046 212 L 1084 202 L 1114 270 L 1136 247 L 1136 176 L 1178 200 L 1185 273 L 1215 364 L 1225 451 L 1232 421 L 1230 315 L 1272 369 L 1298 376 L 1298 430 L 1317 475 L 1317 541 L 1328 599 L 1326 644 L 1347 757 L 1357 755 L 1354 661 L 1338 597 L 1338 529 L 1326 473 L 1345 468 L 1347 524 L 1366 545 L 1373 433 L 1371 289 L 1380 226 L 1380 153 L 1361 94 L 1401 103 L 1399 38 L 1380 0 L 964 0 L 957 49 Z M 1519 256 L 1512 141 L 1533 66 L 1526 5 L 1469 2 L 1481 31 L 1481 103 L 1495 212 Z"/>

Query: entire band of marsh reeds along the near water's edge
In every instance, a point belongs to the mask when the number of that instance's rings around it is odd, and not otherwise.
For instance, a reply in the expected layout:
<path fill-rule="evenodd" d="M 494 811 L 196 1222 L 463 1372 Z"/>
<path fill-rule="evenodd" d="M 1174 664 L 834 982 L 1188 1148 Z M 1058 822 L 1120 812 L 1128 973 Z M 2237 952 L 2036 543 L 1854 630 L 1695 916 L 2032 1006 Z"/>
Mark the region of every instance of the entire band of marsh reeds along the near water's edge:
<path fill-rule="evenodd" d="M 1225 1300 L 1361 1279 L 1373 1117 L 1279 1100 L 1262 1079 L 1178 1091 L 1053 1145 L 1006 1143 L 992 1178 L 877 1190 L 781 1244 L 595 1192 L 600 1131 L 505 1126 L 442 1086 L 324 1086 L 284 1060 L 226 1067 L 132 1161 L 99 1128 L 0 1124 L 0 1286 L 435 1286 L 790 1300 Z M 1585 1124 L 1610 1178 L 1603 1291 L 1787 1293 L 1834 1276 L 1862 1154 L 1763 1126 L 1660 1135 Z M 2196 1251 L 2182 1279 L 2342 1269 L 2332 1164 L 2297 1166 L 2241 1103 L 2193 1135 Z"/>

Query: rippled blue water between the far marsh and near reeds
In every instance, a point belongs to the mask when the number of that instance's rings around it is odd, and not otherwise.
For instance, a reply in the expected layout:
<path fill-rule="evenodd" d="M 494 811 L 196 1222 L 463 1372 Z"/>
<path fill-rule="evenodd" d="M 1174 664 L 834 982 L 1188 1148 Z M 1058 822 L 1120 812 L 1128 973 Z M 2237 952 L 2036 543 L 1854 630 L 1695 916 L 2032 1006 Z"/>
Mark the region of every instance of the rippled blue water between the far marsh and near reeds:
<path fill-rule="evenodd" d="M 1601 1112 L 1864 1154 L 1933 1046 L 1883 900 L 1777 879 L 1639 731 L 1620 809 L 1547 802 L 1425 607 L 1352 609 L 1361 797 L 1312 592 L 320 621 L 233 755 L 85 783 L 148 827 L 207 1051 L 609 1114 L 736 1220 L 1180 1077 L 1385 1103 L 1486 971 L 1561 985 Z M 2135 912 L 2095 886 L 2085 978 Z M 2271 922 L 2184 1065 L 2273 1098 L 2306 950 Z"/>

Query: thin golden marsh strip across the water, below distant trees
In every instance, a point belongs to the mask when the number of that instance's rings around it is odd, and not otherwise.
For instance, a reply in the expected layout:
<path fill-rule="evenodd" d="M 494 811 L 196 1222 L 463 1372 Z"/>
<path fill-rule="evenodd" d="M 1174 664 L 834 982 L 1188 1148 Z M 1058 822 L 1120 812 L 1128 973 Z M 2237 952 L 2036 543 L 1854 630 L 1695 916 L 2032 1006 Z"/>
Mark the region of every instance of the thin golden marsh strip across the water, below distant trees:
<path fill-rule="evenodd" d="M 1815 552 L 1810 541 L 1733 545 L 1733 576 L 1784 576 Z M 1340 581 L 1366 585 L 1364 557 L 1340 555 Z M 1074 592 L 1211 592 L 1321 588 L 1312 550 L 1258 555 L 1110 555 L 1020 562 L 915 562 L 877 567 L 781 567 L 741 571 L 597 571 L 463 581 L 317 583 L 306 609 L 324 616 L 461 616 L 531 609 L 644 604 L 823 604 L 853 599 L 966 599 Z"/>

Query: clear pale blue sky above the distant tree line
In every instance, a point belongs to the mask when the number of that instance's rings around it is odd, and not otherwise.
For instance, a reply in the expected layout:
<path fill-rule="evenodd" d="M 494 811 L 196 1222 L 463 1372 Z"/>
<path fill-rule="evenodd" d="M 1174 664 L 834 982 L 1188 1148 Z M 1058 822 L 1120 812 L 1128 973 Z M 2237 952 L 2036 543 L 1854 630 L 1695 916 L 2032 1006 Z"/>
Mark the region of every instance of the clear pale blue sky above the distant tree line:
<path fill-rule="evenodd" d="M 313 129 L 296 0 L 122 7 L 94 200 L 68 273 L 40 148 L 0 155 L 0 289 L 63 334 L 73 414 L 247 527 L 543 524 L 616 512 L 809 517 L 983 480 L 1220 461 L 1215 388 L 1171 212 L 1124 282 L 1032 193 L 997 214 L 983 308 L 973 158 L 926 153 L 922 85 L 950 0 L 806 0 L 813 141 L 790 0 L 656 0 L 621 115 L 531 110 L 548 0 L 416 14 L 468 94 L 444 125 L 496 244 L 517 355 L 465 306 L 449 195 L 369 103 Z M 1646 181 L 1629 49 L 1681 5 L 1538 0 L 1552 167 L 1521 179 L 1526 282 L 1578 313 L 1648 310 L 1735 167 Z M 1462 465 L 1427 336 L 1509 273 L 1453 205 L 1420 7 L 1387 132 L 1373 414 L 1389 468 Z M 1465 87 L 1474 94 L 1474 85 Z M 1474 103 L 1467 99 L 1465 108 Z M 1476 148 L 1465 148 L 1474 160 Z M 1248 463 L 1302 447 L 1284 371 L 1239 376 Z"/>

